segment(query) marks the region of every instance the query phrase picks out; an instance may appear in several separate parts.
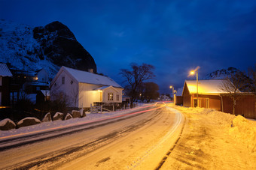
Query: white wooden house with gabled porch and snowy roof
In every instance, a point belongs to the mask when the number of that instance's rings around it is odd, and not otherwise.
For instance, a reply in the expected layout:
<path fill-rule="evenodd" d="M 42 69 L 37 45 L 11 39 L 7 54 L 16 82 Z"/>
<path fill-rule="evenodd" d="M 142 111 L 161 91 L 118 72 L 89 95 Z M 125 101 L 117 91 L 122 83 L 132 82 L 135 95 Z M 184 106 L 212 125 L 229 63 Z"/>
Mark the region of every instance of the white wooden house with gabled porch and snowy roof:
<path fill-rule="evenodd" d="M 122 91 L 108 76 L 62 66 L 50 83 L 50 100 L 62 97 L 69 106 L 84 108 L 94 102 L 122 103 Z"/>

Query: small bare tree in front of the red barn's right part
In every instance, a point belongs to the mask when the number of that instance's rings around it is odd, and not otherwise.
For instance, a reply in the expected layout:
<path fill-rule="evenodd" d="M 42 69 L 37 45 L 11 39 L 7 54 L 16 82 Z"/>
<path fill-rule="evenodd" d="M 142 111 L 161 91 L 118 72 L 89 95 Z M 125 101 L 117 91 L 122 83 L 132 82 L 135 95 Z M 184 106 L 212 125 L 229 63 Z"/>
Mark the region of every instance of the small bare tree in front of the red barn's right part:
<path fill-rule="evenodd" d="M 236 100 L 239 98 L 239 94 L 241 93 L 240 90 L 243 90 L 246 86 L 247 82 L 245 82 L 244 73 L 236 72 L 230 73 L 230 76 L 223 80 L 219 87 L 221 91 L 227 92 L 232 99 L 233 115 L 236 113 Z"/>

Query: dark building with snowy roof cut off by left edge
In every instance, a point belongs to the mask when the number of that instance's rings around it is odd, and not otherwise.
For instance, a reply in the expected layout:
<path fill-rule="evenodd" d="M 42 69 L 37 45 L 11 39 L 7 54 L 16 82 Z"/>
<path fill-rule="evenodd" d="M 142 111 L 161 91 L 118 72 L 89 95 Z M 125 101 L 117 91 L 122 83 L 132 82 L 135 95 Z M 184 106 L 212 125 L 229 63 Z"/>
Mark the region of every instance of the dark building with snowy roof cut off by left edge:
<path fill-rule="evenodd" d="M 0 63 L 0 106 L 10 105 L 10 77 L 13 76 L 7 64 Z"/>

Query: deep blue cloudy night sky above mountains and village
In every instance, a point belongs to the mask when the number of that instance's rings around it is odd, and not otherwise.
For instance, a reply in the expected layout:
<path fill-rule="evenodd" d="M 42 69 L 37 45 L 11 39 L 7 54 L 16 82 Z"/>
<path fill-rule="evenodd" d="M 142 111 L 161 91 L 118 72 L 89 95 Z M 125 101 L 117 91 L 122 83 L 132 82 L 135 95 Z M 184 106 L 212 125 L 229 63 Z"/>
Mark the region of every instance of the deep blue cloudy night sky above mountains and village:
<path fill-rule="evenodd" d="M 0 18 L 32 26 L 67 25 L 99 73 L 121 84 L 121 68 L 152 64 L 160 93 L 199 78 L 256 64 L 256 1 L 0 0 Z"/>

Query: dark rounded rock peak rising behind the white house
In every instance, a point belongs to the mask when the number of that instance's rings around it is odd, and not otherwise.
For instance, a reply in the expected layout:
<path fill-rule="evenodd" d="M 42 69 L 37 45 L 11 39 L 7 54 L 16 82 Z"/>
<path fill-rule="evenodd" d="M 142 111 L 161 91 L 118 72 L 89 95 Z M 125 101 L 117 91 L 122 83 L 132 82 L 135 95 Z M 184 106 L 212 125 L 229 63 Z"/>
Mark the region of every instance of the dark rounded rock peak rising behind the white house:
<path fill-rule="evenodd" d="M 40 43 L 44 55 L 47 55 L 53 64 L 85 71 L 93 69 L 93 73 L 96 73 L 93 57 L 81 43 L 78 43 L 72 31 L 61 22 L 55 21 L 44 27 L 34 28 L 33 37 Z"/>

